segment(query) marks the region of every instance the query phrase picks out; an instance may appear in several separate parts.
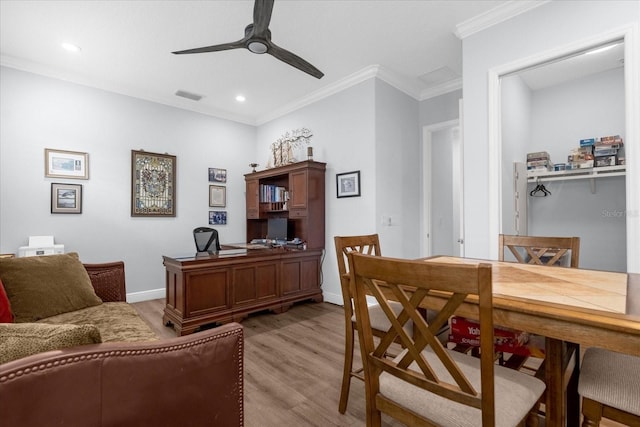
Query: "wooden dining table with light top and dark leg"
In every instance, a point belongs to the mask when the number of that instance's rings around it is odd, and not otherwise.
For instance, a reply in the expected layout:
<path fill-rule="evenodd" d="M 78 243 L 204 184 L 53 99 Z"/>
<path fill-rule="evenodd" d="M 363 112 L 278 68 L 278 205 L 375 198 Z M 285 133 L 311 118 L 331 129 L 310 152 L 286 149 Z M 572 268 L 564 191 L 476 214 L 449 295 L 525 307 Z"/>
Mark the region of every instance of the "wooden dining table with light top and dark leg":
<path fill-rule="evenodd" d="M 421 259 L 436 263 L 492 266 L 495 326 L 545 337 L 545 425 L 578 426 L 579 350 L 600 347 L 640 356 L 640 274 L 568 268 L 453 256 Z M 439 309 L 446 295 L 433 293 L 424 308 Z M 477 299 L 457 314 L 478 318 Z"/>

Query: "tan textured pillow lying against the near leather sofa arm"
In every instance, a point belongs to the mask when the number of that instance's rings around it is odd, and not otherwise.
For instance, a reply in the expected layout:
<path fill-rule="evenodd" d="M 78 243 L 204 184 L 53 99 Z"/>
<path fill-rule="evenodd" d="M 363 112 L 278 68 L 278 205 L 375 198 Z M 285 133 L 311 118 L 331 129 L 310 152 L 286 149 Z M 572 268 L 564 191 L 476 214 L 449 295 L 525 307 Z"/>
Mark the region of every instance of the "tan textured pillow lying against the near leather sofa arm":
<path fill-rule="evenodd" d="M 94 325 L 0 324 L 0 364 L 44 351 L 100 343 Z"/>

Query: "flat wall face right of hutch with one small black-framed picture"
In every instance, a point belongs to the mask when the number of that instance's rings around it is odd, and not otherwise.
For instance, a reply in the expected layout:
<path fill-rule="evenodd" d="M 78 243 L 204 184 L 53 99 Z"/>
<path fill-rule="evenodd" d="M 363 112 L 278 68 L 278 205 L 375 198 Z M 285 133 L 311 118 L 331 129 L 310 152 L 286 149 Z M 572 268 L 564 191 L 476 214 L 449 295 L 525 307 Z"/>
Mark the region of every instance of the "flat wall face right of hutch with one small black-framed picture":
<path fill-rule="evenodd" d="M 327 163 L 322 290 L 335 304 L 342 304 L 342 292 L 333 236 L 378 232 L 374 108 L 375 79 L 370 79 L 266 123 L 257 133 L 256 161 L 264 165 L 270 144 L 285 132 L 301 127 L 313 132 L 314 160 Z M 336 198 L 336 173 L 358 170 L 361 196 Z"/>

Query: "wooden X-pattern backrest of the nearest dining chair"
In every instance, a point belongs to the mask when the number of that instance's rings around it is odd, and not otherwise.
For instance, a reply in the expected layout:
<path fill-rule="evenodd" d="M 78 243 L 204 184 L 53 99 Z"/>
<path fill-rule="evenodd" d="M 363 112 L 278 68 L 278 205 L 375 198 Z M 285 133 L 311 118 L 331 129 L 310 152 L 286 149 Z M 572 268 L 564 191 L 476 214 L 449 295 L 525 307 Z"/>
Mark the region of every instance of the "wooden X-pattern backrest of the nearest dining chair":
<path fill-rule="evenodd" d="M 485 425 L 492 425 L 495 401 L 491 265 L 426 263 L 355 251 L 348 254 L 348 262 L 367 387 L 372 391 L 367 393 L 367 399 L 375 399 L 380 386 L 378 377 L 386 372 L 447 399 L 482 408 L 483 417 L 487 417 Z M 419 310 L 433 292 L 448 296 L 448 300 L 434 323 L 428 324 Z M 392 325 L 381 340 L 373 339 L 367 295 L 376 299 Z M 439 327 L 470 296 L 479 301 L 481 390 L 474 388 L 435 336 Z M 402 311 L 394 312 L 388 299 L 400 302 Z M 403 328 L 407 321 L 413 322 L 413 334 Z M 384 357 L 397 337 L 405 348 L 403 354 L 393 360 Z"/>

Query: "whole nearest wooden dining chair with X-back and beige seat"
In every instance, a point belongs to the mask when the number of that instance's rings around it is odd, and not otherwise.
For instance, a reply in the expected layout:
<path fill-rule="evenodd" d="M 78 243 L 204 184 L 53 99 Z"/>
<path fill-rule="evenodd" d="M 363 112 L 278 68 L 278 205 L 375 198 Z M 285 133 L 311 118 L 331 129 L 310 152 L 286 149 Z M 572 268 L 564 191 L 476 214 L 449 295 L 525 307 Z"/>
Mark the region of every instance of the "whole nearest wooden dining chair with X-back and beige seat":
<path fill-rule="evenodd" d="M 448 264 L 349 254 L 360 347 L 364 361 L 367 426 L 381 413 L 406 425 L 523 425 L 545 389 L 544 382 L 494 363 L 490 264 Z M 419 307 L 430 292 L 449 294 L 435 319 Z M 392 328 L 374 342 L 367 295 L 373 295 Z M 402 305 L 392 310 L 388 299 Z M 448 350 L 436 333 L 466 299 L 480 320 L 480 358 Z M 403 326 L 411 320 L 413 334 Z M 384 357 L 396 339 L 405 347 Z"/>

